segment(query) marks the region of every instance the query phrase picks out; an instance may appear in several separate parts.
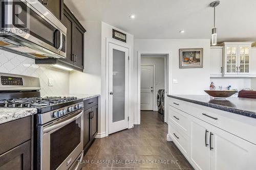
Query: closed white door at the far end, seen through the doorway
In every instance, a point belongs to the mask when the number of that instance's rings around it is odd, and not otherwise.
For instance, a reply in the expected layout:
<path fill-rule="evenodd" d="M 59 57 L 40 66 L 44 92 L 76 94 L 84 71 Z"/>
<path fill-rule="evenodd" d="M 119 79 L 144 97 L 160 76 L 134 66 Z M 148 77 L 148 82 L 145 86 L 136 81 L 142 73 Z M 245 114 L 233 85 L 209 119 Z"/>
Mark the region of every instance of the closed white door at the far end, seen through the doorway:
<path fill-rule="evenodd" d="M 140 67 L 140 110 L 153 110 L 154 66 Z"/>

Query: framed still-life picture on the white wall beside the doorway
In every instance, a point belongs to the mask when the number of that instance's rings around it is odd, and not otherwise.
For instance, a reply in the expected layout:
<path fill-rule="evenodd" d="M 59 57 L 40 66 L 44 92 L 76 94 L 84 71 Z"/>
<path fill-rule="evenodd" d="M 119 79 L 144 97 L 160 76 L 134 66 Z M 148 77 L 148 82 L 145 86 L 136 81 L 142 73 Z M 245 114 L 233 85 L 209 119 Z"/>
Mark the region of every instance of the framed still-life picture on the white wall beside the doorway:
<path fill-rule="evenodd" d="M 202 68 L 203 48 L 180 48 L 180 68 Z"/>

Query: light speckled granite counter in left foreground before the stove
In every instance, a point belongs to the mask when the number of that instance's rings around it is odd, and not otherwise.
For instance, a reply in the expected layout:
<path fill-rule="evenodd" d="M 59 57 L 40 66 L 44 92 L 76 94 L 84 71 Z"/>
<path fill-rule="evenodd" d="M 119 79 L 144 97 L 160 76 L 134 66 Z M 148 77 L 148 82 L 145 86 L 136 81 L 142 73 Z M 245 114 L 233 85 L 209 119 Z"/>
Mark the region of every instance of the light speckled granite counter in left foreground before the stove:
<path fill-rule="evenodd" d="M 36 113 L 36 108 L 0 108 L 0 124 Z"/>

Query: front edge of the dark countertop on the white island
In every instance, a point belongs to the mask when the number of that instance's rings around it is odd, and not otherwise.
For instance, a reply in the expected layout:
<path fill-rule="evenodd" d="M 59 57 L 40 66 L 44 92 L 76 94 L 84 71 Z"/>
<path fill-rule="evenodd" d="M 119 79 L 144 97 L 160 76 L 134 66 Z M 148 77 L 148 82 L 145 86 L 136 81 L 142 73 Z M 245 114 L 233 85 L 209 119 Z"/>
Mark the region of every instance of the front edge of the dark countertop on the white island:
<path fill-rule="evenodd" d="M 211 108 L 214 108 L 214 109 L 219 109 L 219 110 L 223 110 L 223 111 L 227 111 L 227 112 L 231 112 L 231 113 L 235 113 L 235 114 L 244 115 L 244 116 L 247 116 L 247 117 L 256 118 L 256 113 L 251 112 L 251 111 L 240 110 L 240 109 L 231 108 L 231 107 L 227 107 L 227 106 L 221 106 L 221 105 L 217 105 L 217 104 L 212 104 L 212 103 L 207 103 L 207 102 L 201 102 L 201 101 L 181 98 L 179 96 L 170 95 L 170 94 L 167 94 L 167 96 L 169 98 L 174 98 L 174 99 L 182 100 L 182 101 L 185 101 L 185 102 L 199 104 L 199 105 L 206 106 L 206 107 L 211 107 Z"/>

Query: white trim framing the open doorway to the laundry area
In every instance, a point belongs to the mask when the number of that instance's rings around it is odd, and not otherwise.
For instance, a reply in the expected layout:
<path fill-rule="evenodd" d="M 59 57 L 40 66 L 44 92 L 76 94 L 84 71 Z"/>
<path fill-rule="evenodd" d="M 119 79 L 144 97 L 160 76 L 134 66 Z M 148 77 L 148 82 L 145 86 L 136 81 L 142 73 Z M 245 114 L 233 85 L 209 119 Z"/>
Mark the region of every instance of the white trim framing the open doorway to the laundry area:
<path fill-rule="evenodd" d="M 137 125 L 140 125 L 140 64 L 141 64 L 141 54 L 166 54 L 167 57 L 165 57 L 166 59 L 164 61 L 166 61 L 166 63 L 164 64 L 164 72 L 165 72 L 165 83 L 164 83 L 164 89 L 165 89 L 165 94 L 169 94 L 171 89 L 172 89 L 172 84 L 170 83 L 172 80 L 172 74 L 171 74 L 171 63 L 172 63 L 172 56 L 171 56 L 171 52 L 168 51 L 138 51 L 138 68 L 137 68 L 137 121 L 135 121 L 135 123 Z M 164 102 L 164 122 L 167 123 L 167 103 L 166 103 L 166 98 L 167 96 L 165 95 L 165 102 Z"/>

